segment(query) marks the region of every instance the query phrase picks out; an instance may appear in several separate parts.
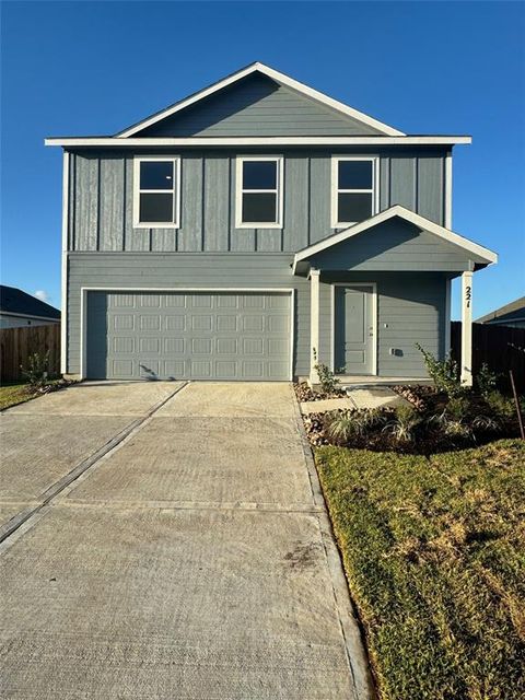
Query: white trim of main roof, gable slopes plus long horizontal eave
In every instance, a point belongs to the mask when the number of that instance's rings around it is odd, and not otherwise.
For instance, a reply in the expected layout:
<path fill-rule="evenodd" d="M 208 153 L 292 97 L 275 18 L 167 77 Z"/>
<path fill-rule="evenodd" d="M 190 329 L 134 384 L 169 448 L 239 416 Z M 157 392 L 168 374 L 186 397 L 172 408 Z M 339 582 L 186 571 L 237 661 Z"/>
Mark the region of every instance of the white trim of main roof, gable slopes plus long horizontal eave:
<path fill-rule="evenodd" d="M 233 85 L 241 84 L 248 77 L 258 75 L 265 77 L 273 83 L 292 91 L 293 93 L 301 95 L 304 98 L 314 101 L 324 108 L 328 108 L 335 114 L 346 119 L 352 119 L 363 126 L 362 135 L 347 135 L 347 136 L 232 136 L 228 138 L 228 135 L 220 137 L 201 135 L 184 137 L 175 137 L 170 135 L 156 135 L 151 136 L 149 129 L 153 125 L 167 120 L 173 115 L 177 115 L 184 110 L 194 108 L 198 103 L 206 101 L 212 95 L 215 95 L 222 90 L 229 89 Z M 145 133 L 144 133 L 145 132 Z M 137 144 L 141 145 L 191 145 L 194 142 L 200 145 L 258 145 L 272 143 L 273 145 L 280 144 L 298 144 L 298 145 L 323 145 L 323 144 L 381 144 L 388 143 L 390 145 L 396 144 L 441 144 L 453 145 L 455 143 L 470 143 L 471 139 L 468 136 L 424 136 L 424 135 L 411 135 L 408 136 L 394 127 L 390 127 L 369 115 L 350 107 L 338 100 L 329 97 L 324 93 L 301 83 L 280 71 L 277 71 L 260 62 L 255 62 L 246 68 L 243 68 L 231 75 L 200 90 L 184 100 L 162 109 L 145 119 L 128 127 L 124 131 L 116 133 L 112 137 L 56 137 L 46 139 L 46 145 L 62 145 L 62 147 L 77 147 L 77 145 L 112 145 L 115 141 L 119 141 L 119 145 L 132 147 Z"/>

